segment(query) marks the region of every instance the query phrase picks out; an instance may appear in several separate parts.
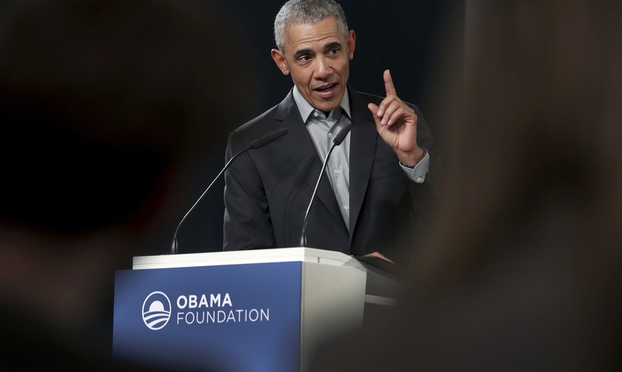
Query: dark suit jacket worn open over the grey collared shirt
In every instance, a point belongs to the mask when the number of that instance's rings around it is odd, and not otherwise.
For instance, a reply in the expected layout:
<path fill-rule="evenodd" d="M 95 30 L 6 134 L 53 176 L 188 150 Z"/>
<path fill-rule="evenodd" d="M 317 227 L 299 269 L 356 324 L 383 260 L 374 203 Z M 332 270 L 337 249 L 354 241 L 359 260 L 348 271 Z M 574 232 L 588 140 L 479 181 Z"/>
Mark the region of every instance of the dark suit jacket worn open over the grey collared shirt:
<path fill-rule="evenodd" d="M 351 87 L 348 90 L 351 233 L 324 172 L 309 211 L 307 246 L 348 255 L 378 251 L 398 258 L 398 245 L 409 242 L 420 230 L 430 184 L 410 181 L 393 149 L 376 132 L 367 105 L 378 104 L 383 98 Z M 434 158 L 430 128 L 418 107 L 413 108 L 418 115 L 418 144 Z M 229 135 L 227 160 L 255 139 L 281 128 L 289 130 L 285 137 L 240 156 L 225 174 L 224 250 L 300 245 L 304 213 L 323 159 L 313 146 L 292 92 Z"/>

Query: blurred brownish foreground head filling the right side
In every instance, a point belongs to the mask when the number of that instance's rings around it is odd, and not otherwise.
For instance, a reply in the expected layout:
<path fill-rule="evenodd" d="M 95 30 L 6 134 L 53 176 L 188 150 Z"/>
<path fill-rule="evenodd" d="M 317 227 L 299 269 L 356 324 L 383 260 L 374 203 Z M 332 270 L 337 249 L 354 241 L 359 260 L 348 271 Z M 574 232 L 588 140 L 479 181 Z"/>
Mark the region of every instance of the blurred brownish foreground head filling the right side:
<path fill-rule="evenodd" d="M 318 371 L 619 370 L 622 4 L 467 15 L 462 115 L 403 306 Z"/>

